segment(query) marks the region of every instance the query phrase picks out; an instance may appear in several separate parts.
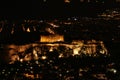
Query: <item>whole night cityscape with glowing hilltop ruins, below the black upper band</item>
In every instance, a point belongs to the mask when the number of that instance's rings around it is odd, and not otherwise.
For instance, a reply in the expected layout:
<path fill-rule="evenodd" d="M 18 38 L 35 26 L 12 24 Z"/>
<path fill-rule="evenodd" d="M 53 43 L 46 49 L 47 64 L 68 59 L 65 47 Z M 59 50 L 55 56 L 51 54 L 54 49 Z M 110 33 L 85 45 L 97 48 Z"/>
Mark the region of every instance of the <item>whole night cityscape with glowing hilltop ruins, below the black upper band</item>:
<path fill-rule="evenodd" d="M 119 80 L 119 20 L 118 8 L 95 18 L 1 20 L 0 79 Z"/>

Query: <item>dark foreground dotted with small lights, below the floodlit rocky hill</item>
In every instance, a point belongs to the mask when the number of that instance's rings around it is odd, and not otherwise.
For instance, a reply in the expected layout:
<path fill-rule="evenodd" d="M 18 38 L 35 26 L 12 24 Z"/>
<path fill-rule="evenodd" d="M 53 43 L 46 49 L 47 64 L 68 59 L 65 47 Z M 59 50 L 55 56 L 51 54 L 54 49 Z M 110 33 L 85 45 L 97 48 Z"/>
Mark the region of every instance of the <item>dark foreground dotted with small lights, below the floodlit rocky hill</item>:
<path fill-rule="evenodd" d="M 74 56 L 16 61 L 0 66 L 1 80 L 119 80 L 120 64 L 110 57 Z"/>

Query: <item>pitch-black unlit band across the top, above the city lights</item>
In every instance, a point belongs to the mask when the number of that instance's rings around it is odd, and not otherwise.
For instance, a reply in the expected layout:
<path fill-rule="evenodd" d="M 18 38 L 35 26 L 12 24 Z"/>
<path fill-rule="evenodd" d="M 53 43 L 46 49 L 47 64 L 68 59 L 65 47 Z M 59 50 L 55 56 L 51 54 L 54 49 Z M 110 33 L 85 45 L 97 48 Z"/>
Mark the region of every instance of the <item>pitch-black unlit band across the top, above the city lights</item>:
<path fill-rule="evenodd" d="M 101 4 L 65 4 L 63 0 L 2 0 L 0 1 L 0 16 L 67 16 L 95 15 L 103 9 Z"/>

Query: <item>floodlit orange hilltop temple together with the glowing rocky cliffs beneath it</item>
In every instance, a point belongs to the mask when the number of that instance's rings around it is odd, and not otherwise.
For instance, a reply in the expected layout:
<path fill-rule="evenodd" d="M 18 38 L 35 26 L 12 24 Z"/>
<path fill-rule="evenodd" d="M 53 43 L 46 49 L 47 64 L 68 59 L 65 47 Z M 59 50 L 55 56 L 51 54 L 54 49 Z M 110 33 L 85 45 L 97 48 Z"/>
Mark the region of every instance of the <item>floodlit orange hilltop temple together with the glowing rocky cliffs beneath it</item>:
<path fill-rule="evenodd" d="M 56 41 L 64 41 L 63 36 L 61 35 L 51 35 L 51 36 L 41 36 L 41 42 L 56 42 Z M 36 47 L 37 46 L 37 47 Z M 42 46 L 45 46 L 47 48 L 42 48 Z M 63 51 L 60 51 L 59 46 L 63 46 Z M 28 54 L 24 54 L 25 51 L 31 47 L 34 47 L 31 52 Z M 52 52 L 54 50 L 58 50 L 59 53 L 59 58 L 63 58 L 66 56 L 75 56 L 75 55 L 88 55 L 88 56 L 99 56 L 100 54 L 103 55 L 109 55 L 106 47 L 104 46 L 103 41 L 96 41 L 96 40 L 89 40 L 89 41 L 84 41 L 84 40 L 77 40 L 73 41 L 70 44 L 65 44 L 65 43 L 43 43 L 43 44 L 26 44 L 26 45 L 7 45 L 7 53 L 9 54 L 8 57 L 11 62 L 14 62 L 16 60 L 19 60 L 21 62 L 23 61 L 30 61 L 31 59 L 38 60 L 41 58 L 42 60 L 47 59 L 48 57 L 46 56 L 47 52 L 46 50 L 49 50 L 49 52 Z M 46 50 L 45 50 L 46 49 Z M 43 52 L 42 52 L 43 51 Z M 20 53 L 20 55 L 24 55 L 24 58 L 20 58 L 17 52 Z M 39 54 L 43 54 L 41 57 Z"/>

